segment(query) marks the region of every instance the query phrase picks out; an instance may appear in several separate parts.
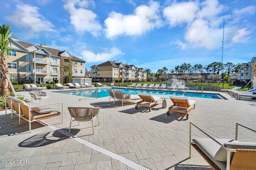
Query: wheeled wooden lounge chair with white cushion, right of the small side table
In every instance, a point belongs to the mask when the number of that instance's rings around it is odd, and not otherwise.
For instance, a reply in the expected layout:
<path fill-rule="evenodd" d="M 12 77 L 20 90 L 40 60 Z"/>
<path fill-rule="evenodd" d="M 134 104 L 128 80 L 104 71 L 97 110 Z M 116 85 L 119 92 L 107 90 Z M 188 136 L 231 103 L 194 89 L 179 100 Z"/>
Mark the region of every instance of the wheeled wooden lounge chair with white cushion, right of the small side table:
<path fill-rule="evenodd" d="M 196 107 L 196 101 L 188 100 L 187 97 L 170 96 L 170 100 L 172 100 L 173 105 L 169 107 L 167 115 L 170 115 L 170 111 L 186 113 L 186 119 L 188 119 L 188 111 L 190 111 L 192 106 Z"/>

